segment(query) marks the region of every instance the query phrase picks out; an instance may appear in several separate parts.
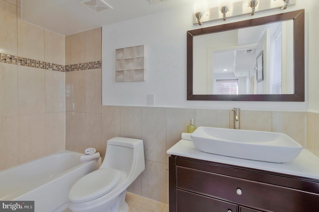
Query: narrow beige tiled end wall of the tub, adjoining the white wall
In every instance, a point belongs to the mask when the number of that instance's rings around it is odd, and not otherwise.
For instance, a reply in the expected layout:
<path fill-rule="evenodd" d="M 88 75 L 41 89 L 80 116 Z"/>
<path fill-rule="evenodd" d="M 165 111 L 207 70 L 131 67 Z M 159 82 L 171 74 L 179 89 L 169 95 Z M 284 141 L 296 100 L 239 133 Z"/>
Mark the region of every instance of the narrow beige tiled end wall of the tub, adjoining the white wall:
<path fill-rule="evenodd" d="M 66 149 L 95 147 L 102 155 L 102 30 L 65 37 Z"/>

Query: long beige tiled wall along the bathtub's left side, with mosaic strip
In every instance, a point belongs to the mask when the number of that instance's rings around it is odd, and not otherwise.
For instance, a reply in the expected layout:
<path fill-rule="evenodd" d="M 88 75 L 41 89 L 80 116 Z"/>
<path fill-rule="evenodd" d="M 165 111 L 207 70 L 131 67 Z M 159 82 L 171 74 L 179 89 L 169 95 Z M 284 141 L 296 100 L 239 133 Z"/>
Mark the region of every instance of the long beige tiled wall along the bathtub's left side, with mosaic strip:
<path fill-rule="evenodd" d="M 65 149 L 64 36 L 0 0 L 0 170 Z"/>

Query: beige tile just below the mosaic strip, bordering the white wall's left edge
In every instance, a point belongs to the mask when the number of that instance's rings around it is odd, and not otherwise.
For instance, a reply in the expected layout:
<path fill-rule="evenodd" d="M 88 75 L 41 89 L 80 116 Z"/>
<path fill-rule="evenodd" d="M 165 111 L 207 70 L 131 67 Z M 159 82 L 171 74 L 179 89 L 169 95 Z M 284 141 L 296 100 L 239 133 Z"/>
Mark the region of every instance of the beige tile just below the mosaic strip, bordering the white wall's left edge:
<path fill-rule="evenodd" d="M 86 112 L 101 113 L 102 81 L 101 69 L 85 71 L 85 110 Z"/>

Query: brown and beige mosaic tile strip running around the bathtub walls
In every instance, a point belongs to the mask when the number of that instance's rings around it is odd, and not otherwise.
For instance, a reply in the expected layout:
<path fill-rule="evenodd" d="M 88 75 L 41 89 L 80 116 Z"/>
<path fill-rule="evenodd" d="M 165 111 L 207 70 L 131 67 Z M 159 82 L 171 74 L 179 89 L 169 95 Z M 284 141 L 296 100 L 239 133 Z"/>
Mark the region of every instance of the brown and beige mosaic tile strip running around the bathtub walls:
<path fill-rule="evenodd" d="M 59 65 L 54 63 L 48 63 L 40 60 L 33 60 L 25 57 L 18 57 L 14 55 L 8 55 L 0 53 L 0 63 L 8 63 L 19 66 L 27 66 L 32 68 L 39 68 L 45 70 L 52 70 L 58 72 L 70 72 L 70 71 L 81 71 L 89 69 L 102 68 L 102 61 L 94 61 L 87 63 L 79 63 L 73 65 Z"/>

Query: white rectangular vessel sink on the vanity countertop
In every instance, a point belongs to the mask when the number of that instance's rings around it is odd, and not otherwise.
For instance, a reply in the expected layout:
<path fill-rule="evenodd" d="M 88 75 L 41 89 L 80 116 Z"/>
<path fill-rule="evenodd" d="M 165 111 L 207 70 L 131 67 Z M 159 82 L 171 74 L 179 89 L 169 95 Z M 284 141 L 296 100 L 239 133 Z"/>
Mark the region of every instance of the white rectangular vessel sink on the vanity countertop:
<path fill-rule="evenodd" d="M 273 163 L 292 161 L 303 149 L 288 135 L 277 132 L 198 127 L 190 137 L 203 152 Z"/>

